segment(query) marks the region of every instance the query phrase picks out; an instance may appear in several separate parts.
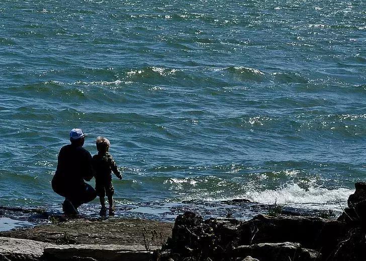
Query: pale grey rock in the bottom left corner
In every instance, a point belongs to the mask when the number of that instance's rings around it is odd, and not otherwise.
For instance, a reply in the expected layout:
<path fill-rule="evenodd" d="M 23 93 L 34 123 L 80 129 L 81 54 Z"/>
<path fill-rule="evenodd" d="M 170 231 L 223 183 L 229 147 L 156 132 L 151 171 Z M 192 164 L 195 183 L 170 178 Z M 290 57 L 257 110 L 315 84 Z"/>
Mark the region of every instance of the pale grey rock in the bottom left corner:
<path fill-rule="evenodd" d="M 43 254 L 43 249 L 51 246 L 54 245 L 28 239 L 0 237 L 0 260 L 38 261 Z"/>

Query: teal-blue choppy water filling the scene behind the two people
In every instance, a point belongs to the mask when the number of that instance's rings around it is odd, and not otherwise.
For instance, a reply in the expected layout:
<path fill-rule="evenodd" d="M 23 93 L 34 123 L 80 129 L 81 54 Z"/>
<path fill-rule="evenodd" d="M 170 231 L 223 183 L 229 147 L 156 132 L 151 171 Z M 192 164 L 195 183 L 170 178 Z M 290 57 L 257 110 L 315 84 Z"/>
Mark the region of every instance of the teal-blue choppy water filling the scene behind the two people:
<path fill-rule="evenodd" d="M 2 1 L 0 205 L 60 204 L 50 180 L 80 127 L 92 155 L 97 136 L 111 141 L 120 205 L 339 208 L 366 179 L 365 10 L 356 0 Z"/>

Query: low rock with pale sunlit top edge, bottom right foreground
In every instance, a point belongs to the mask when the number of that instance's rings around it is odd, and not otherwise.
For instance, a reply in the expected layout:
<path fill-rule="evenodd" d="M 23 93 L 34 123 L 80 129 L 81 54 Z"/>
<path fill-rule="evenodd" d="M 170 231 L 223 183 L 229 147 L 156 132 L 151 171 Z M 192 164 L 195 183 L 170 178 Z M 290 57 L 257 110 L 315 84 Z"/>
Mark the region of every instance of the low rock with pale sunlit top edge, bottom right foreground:
<path fill-rule="evenodd" d="M 299 243 L 260 243 L 241 245 L 232 250 L 232 257 L 253 256 L 261 261 L 312 261 L 316 260 L 315 251 L 302 248 Z"/>

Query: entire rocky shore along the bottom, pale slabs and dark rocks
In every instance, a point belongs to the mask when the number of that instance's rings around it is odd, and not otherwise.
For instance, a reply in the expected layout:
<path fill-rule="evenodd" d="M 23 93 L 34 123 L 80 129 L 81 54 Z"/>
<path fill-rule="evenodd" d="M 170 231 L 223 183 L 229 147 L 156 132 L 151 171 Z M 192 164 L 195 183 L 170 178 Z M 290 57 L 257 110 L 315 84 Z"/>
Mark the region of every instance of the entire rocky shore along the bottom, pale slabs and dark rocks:
<path fill-rule="evenodd" d="M 187 211 L 175 223 L 143 219 L 53 220 L 0 232 L 3 260 L 366 260 L 366 183 L 337 219 L 257 215 L 243 221 Z"/>

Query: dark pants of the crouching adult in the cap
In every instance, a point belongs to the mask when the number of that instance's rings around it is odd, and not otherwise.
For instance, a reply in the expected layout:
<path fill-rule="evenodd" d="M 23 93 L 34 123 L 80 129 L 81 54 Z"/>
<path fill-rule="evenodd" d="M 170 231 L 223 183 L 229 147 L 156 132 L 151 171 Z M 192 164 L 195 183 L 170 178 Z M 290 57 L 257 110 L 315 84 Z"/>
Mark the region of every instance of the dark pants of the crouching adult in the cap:
<path fill-rule="evenodd" d="M 72 186 L 71 184 L 67 184 L 67 182 L 60 181 L 55 176 L 52 179 L 52 189 L 58 195 L 70 200 L 75 208 L 97 197 L 96 190 L 89 184 L 84 182 L 82 185 Z"/>

